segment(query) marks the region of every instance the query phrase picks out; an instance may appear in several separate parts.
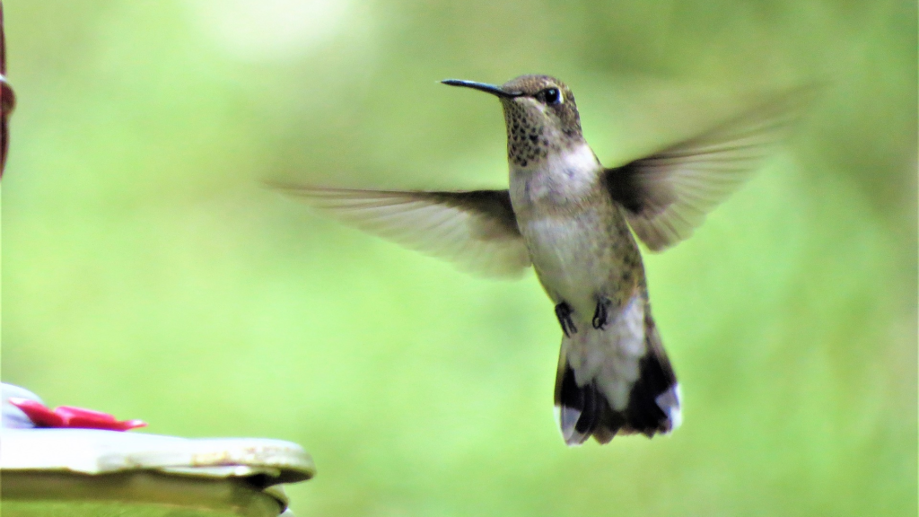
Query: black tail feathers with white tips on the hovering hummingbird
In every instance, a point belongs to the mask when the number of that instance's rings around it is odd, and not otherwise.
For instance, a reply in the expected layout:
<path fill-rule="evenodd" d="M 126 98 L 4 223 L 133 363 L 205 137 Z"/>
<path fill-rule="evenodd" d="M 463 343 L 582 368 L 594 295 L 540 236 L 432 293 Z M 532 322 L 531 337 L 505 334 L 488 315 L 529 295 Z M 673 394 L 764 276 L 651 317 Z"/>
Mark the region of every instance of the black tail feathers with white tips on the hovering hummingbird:
<path fill-rule="evenodd" d="M 644 320 L 645 351 L 638 362 L 638 377 L 630 386 L 624 408 L 613 407 L 596 378 L 579 385 L 565 347 L 562 347 L 555 381 L 555 407 L 562 436 L 568 445 L 581 444 L 591 436 L 600 443 L 609 442 L 617 434 L 641 432 L 651 437 L 679 426 L 679 386 L 650 310 Z M 609 360 L 612 360 L 611 355 Z"/>

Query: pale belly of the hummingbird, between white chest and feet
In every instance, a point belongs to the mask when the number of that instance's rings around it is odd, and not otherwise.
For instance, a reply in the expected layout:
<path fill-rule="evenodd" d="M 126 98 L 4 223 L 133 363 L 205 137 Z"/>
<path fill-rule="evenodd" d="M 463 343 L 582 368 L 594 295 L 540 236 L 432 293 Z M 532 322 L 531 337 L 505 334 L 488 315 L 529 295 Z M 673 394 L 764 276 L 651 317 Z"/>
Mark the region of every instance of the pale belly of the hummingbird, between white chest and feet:
<path fill-rule="evenodd" d="M 521 227 L 546 292 L 556 303 L 571 304 L 580 319 L 594 314 L 596 294 L 606 290 L 621 267 L 605 219 L 597 211 L 585 211 L 573 217 L 535 218 Z"/>

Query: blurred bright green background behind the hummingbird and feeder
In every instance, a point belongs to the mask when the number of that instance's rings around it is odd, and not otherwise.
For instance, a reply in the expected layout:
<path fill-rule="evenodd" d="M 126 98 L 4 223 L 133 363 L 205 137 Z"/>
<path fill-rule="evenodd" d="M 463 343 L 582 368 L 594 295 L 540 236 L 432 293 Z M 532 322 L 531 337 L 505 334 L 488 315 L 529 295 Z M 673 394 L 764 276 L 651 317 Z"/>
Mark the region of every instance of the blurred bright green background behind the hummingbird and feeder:
<path fill-rule="evenodd" d="M 303 515 L 916 514 L 914 2 L 7 0 L 3 378 L 186 436 L 302 443 Z M 607 165 L 755 92 L 823 97 L 647 259 L 673 435 L 563 446 L 561 331 L 267 178 L 498 188 L 493 98 L 562 77 Z"/>

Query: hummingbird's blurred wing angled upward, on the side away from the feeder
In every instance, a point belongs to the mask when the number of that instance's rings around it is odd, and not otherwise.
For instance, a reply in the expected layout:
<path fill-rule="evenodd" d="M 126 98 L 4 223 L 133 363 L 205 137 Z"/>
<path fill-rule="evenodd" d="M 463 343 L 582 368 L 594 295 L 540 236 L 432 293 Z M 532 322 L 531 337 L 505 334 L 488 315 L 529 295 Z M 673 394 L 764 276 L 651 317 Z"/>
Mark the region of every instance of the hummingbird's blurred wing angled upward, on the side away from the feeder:
<path fill-rule="evenodd" d="M 692 235 L 788 135 L 812 93 L 811 86 L 789 91 L 696 138 L 607 169 L 609 193 L 635 234 L 652 251 Z"/>

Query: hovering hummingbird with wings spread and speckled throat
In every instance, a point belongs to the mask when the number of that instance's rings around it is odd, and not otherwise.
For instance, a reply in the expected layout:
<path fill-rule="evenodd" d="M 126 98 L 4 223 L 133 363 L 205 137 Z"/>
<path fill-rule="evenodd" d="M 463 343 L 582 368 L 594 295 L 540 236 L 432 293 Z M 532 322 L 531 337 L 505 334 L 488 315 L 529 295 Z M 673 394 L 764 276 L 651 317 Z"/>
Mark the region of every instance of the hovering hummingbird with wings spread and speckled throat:
<path fill-rule="evenodd" d="M 680 388 L 652 316 L 637 241 L 656 252 L 690 236 L 785 136 L 800 92 L 604 167 L 584 140 L 571 88 L 559 79 L 442 83 L 501 102 L 509 189 L 276 186 L 460 269 L 513 277 L 532 267 L 562 329 L 555 408 L 568 445 L 675 430 Z"/>

